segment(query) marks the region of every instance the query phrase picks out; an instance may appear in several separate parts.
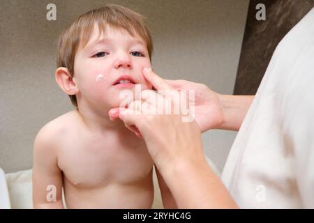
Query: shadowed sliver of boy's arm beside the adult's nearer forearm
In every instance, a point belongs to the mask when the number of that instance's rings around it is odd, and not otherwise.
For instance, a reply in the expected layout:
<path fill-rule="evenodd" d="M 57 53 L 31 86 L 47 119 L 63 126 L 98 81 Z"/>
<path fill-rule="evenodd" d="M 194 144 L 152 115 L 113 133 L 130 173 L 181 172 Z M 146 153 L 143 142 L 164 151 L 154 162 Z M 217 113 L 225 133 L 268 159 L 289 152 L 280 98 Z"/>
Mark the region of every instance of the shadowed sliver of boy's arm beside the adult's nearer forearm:
<path fill-rule="evenodd" d="M 165 180 L 163 180 L 163 176 L 160 175 L 157 167 L 155 166 L 156 176 L 158 179 L 158 185 L 160 188 L 161 198 L 163 200 L 163 207 L 165 209 L 177 209 L 177 203 L 172 196 L 172 192 L 170 192 L 169 187 L 166 185 Z"/>

